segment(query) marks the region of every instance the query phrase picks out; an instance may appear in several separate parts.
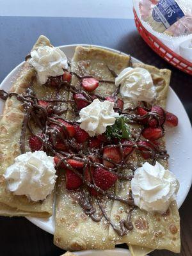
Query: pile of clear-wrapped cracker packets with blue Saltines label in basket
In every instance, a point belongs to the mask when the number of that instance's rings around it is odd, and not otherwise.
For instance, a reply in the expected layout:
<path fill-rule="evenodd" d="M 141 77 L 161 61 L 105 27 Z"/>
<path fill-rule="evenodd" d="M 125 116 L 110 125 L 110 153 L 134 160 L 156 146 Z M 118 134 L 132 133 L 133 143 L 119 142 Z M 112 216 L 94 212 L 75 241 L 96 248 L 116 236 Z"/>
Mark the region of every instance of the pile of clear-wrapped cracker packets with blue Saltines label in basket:
<path fill-rule="evenodd" d="M 141 0 L 141 17 L 160 33 L 192 33 L 192 0 Z"/>

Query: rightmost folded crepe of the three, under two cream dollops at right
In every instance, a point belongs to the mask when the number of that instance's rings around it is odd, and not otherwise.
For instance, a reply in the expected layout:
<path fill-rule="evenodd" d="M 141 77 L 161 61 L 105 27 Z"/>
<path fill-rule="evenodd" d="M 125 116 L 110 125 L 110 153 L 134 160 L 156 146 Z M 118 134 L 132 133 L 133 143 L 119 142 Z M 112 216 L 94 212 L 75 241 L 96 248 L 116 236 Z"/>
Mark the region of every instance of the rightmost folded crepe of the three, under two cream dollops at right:
<path fill-rule="evenodd" d="M 170 83 L 170 71 L 169 70 L 159 70 L 155 67 L 144 64 L 134 64 L 134 67 L 143 67 L 147 69 L 152 75 L 154 85 L 157 90 L 157 97 L 155 104 L 165 108 L 166 97 L 168 93 L 168 86 Z M 129 102 L 130 106 L 130 102 Z M 158 140 L 162 149 L 165 148 L 164 138 Z M 138 166 L 144 163 L 146 160 L 141 157 L 140 153 L 134 159 Z M 158 160 L 164 168 L 168 168 L 168 161 Z M 148 161 L 150 162 L 150 161 Z M 116 194 L 120 196 L 129 195 L 130 182 L 120 181 L 116 182 Z M 124 209 L 124 211 L 118 212 L 118 209 Z M 116 215 L 118 212 L 118 218 L 120 220 L 125 219 L 127 216 L 126 211 L 129 211 L 130 207 L 115 201 L 113 204 L 113 209 L 111 211 L 111 220 L 118 225 L 116 221 Z M 136 245 L 148 247 L 151 249 L 166 249 L 172 252 L 180 252 L 180 225 L 179 225 L 179 211 L 176 202 L 172 202 L 166 214 L 158 214 L 155 212 L 145 212 L 141 211 L 138 207 L 134 208 L 132 211 L 132 223 L 134 228 L 132 231 L 124 237 L 118 236 L 113 228 L 109 227 L 109 236 L 111 240 L 116 240 L 116 243 L 127 243 L 128 245 Z M 134 249 L 132 248 L 132 255 L 134 254 Z"/>

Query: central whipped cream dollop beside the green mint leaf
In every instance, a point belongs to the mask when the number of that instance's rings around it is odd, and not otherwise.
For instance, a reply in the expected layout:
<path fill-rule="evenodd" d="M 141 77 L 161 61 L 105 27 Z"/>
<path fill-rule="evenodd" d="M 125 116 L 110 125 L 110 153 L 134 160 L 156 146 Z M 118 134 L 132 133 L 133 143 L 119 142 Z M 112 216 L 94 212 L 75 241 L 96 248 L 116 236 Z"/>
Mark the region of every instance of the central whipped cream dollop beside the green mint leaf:
<path fill-rule="evenodd" d="M 114 102 L 93 100 L 90 105 L 79 112 L 80 119 L 78 122 L 81 122 L 81 129 L 88 132 L 91 137 L 105 132 L 106 127 L 115 124 L 115 120 L 119 116 L 113 107 Z"/>

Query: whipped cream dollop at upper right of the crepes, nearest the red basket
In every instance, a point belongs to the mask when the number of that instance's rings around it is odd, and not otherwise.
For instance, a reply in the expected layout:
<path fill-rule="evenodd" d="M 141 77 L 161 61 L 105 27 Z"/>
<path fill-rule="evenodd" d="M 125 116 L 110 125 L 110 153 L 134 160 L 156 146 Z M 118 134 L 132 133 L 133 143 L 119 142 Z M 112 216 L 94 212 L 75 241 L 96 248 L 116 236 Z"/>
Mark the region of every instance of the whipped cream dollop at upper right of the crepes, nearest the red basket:
<path fill-rule="evenodd" d="M 151 102 L 156 97 L 152 77 L 145 68 L 125 68 L 115 78 L 116 86 L 120 84 L 120 94 L 133 101 Z"/>

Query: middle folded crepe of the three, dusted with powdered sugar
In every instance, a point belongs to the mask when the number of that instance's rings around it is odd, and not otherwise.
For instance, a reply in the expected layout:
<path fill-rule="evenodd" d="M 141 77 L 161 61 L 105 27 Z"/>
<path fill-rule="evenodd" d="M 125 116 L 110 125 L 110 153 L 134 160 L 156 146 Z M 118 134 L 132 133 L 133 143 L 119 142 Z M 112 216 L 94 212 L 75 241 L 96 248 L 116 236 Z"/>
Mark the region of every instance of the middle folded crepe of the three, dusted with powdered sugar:
<path fill-rule="evenodd" d="M 114 81 L 109 68 L 119 74 L 129 64 L 129 56 L 115 54 L 94 47 L 77 47 L 72 60 L 72 72 L 97 79 Z M 72 84 L 80 86 L 76 76 L 72 77 Z M 115 91 L 115 84 L 102 83 L 94 91 L 108 96 Z M 70 108 L 71 109 L 71 108 Z M 76 115 L 69 111 L 67 119 L 73 120 Z M 78 192 L 68 191 L 65 188 L 65 174 L 60 173 L 56 194 L 56 227 L 54 244 L 67 250 L 111 249 L 115 244 L 109 241 L 109 223 L 102 218 L 100 222 L 92 221 L 84 214 L 81 206 L 76 202 Z M 110 214 L 111 200 L 104 200 L 105 210 Z M 95 206 L 95 203 L 93 202 Z M 98 210 L 98 205 L 95 206 Z"/>

